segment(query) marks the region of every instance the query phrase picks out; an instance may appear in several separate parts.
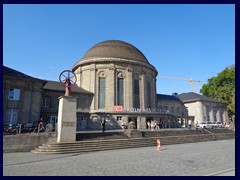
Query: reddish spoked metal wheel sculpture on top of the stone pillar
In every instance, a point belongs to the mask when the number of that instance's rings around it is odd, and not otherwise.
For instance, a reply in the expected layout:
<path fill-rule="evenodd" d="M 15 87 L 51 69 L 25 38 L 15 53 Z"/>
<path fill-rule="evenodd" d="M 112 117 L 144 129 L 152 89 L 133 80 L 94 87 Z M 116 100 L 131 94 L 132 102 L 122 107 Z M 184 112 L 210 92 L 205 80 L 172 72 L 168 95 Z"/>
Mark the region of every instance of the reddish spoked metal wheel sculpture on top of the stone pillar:
<path fill-rule="evenodd" d="M 71 84 L 76 84 L 77 76 L 70 70 L 64 70 L 59 75 L 59 81 L 65 86 L 65 96 L 71 96 Z"/>

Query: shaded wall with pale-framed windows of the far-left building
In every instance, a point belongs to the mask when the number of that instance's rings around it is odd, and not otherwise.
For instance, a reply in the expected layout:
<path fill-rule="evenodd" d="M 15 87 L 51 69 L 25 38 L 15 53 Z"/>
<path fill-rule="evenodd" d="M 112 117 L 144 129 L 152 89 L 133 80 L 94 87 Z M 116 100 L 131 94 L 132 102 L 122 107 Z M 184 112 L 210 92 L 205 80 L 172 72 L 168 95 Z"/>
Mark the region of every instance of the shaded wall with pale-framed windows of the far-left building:
<path fill-rule="evenodd" d="M 37 120 L 44 81 L 4 76 L 3 124 L 24 124 Z"/>

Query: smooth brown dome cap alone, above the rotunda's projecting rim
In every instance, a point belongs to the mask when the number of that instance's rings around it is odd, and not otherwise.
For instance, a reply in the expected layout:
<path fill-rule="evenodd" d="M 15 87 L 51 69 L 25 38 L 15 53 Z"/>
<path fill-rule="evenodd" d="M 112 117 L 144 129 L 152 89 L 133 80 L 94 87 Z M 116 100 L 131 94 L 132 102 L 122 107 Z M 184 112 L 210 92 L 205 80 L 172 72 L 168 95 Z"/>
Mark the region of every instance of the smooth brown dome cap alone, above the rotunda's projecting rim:
<path fill-rule="evenodd" d="M 147 58 L 133 45 L 118 41 L 103 41 L 89 49 L 80 61 L 89 58 L 121 58 L 149 63 Z"/>

